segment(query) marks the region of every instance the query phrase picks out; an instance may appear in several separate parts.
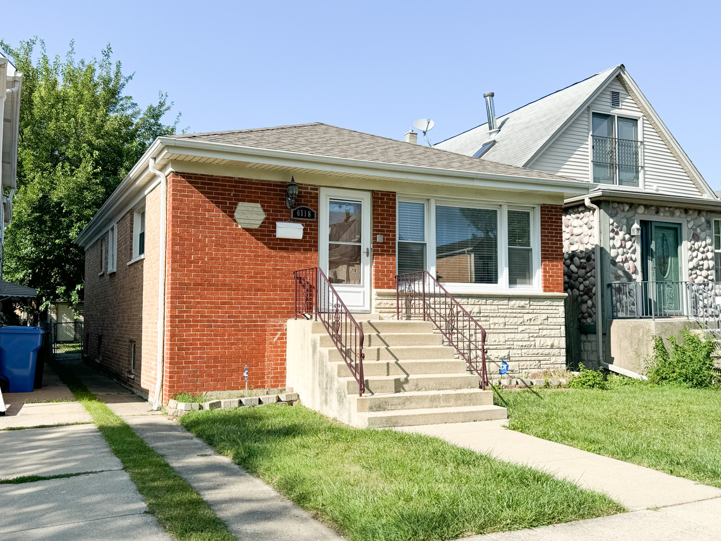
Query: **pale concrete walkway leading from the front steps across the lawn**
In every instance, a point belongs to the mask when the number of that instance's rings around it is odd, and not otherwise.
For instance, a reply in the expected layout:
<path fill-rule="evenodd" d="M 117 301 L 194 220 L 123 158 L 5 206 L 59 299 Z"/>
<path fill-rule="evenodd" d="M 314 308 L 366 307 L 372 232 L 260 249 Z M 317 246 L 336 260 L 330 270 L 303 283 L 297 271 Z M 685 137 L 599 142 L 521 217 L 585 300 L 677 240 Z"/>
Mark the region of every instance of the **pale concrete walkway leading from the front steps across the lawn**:
<path fill-rule="evenodd" d="M 507 422 L 405 426 L 397 430 L 438 436 L 459 447 L 547 471 L 581 488 L 606 493 L 632 511 L 721 496 L 720 488 L 508 430 L 504 428 Z"/>

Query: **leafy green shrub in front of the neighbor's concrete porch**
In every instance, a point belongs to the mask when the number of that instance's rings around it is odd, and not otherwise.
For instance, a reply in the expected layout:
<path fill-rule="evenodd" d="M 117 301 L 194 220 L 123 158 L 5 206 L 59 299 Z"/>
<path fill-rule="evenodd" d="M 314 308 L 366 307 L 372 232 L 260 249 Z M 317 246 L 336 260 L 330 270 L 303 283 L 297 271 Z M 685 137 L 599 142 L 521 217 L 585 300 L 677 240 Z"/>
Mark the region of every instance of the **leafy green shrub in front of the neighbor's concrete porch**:
<path fill-rule="evenodd" d="M 702 340 L 701 335 L 688 329 L 681 330 L 683 343 L 669 336 L 671 353 L 657 336 L 653 344 L 653 357 L 648 365 L 648 379 L 655 384 L 675 383 L 684 387 L 711 387 L 719 383 L 719 375 L 713 371 L 711 354 L 715 349 L 712 337 Z"/>

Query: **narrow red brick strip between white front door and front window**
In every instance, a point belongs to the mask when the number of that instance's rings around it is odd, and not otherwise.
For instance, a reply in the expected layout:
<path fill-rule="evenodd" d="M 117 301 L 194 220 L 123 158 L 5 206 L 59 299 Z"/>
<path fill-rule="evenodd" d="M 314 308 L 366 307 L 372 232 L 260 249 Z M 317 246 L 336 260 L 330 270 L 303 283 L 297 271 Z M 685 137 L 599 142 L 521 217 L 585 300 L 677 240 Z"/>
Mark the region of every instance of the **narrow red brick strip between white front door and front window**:
<path fill-rule="evenodd" d="M 376 242 L 378 235 L 383 242 Z M 396 284 L 396 193 L 373 192 L 373 287 L 394 289 Z"/>

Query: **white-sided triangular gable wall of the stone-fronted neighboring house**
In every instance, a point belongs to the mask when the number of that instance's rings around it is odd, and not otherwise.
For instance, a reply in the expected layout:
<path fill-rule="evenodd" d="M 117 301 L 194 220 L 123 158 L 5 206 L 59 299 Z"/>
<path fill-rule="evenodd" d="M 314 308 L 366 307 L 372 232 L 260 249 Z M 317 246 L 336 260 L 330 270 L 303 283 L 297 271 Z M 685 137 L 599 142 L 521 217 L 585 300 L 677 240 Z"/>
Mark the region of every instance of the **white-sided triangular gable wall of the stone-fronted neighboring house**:
<path fill-rule="evenodd" d="M 619 107 L 611 107 L 611 92 L 619 93 Z M 589 107 L 575 118 L 570 126 L 552 141 L 533 162 L 531 169 L 578 180 L 592 181 L 590 174 L 590 116 L 592 113 L 624 114 L 638 118 L 639 138 L 642 141 L 642 172 L 640 188 L 655 193 L 683 197 L 702 197 L 684 167 L 674 157 L 663 139 L 645 117 L 637 103 L 618 77 L 598 93 Z M 656 192 L 658 188 L 658 192 Z"/>

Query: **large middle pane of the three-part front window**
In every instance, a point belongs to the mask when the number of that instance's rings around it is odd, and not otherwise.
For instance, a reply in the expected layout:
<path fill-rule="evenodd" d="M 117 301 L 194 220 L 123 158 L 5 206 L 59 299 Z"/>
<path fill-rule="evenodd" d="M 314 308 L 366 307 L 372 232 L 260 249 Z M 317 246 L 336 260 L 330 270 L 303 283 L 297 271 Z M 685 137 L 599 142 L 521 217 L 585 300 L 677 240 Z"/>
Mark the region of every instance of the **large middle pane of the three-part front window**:
<path fill-rule="evenodd" d="M 498 211 L 435 207 L 435 274 L 451 283 L 498 283 Z"/>

